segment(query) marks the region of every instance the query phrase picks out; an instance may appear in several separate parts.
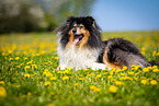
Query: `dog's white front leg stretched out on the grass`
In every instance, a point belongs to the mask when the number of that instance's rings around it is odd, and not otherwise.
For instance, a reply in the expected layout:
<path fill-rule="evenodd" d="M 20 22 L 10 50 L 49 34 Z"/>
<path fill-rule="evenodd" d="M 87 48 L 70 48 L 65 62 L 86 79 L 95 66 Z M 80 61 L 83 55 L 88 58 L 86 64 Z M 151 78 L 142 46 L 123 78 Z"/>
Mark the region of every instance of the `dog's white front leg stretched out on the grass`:
<path fill-rule="evenodd" d="M 99 69 L 105 70 L 106 68 L 109 68 L 109 70 L 111 70 L 111 68 L 105 66 L 104 63 L 96 63 L 96 62 L 91 63 L 90 68 L 92 70 L 99 70 Z"/>

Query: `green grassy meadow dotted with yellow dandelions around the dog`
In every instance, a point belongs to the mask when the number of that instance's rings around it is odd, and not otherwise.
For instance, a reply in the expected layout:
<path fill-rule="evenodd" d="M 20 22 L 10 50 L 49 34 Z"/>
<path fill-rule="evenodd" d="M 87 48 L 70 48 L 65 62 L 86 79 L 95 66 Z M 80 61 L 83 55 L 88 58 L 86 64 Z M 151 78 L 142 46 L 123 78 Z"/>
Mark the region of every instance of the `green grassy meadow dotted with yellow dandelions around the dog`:
<path fill-rule="evenodd" d="M 110 32 L 136 44 L 148 61 L 159 60 L 159 32 Z M 73 71 L 58 67 L 53 33 L 0 36 L 0 106 L 158 106 L 159 67 Z"/>

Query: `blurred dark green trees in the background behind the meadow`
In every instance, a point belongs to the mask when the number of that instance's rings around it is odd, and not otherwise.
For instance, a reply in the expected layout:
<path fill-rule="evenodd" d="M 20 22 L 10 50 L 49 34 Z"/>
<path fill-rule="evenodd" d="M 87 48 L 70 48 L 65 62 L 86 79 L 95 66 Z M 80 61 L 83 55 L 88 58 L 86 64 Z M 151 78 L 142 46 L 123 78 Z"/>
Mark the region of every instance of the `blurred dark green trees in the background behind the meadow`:
<path fill-rule="evenodd" d="M 70 15 L 88 15 L 94 0 L 0 0 L 0 33 L 53 31 Z"/>

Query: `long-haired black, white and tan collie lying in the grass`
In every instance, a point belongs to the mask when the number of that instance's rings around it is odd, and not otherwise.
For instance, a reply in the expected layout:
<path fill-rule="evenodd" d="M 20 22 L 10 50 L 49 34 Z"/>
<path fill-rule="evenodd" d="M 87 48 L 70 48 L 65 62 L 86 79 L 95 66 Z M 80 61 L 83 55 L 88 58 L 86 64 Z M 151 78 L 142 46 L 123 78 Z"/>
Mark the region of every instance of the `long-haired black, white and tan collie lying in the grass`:
<path fill-rule="evenodd" d="M 61 70 L 66 67 L 94 70 L 105 67 L 130 68 L 132 64 L 140 66 L 141 69 L 151 66 L 128 40 L 113 38 L 102 42 L 101 30 L 92 16 L 70 16 L 56 32 L 59 32 L 57 52 Z"/>

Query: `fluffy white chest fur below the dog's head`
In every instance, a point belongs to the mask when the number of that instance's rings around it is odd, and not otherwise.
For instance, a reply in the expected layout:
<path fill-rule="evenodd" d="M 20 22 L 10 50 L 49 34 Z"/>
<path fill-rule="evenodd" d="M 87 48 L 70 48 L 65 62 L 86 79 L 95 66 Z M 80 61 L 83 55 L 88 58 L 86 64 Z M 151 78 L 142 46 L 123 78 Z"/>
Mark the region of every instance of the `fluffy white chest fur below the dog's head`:
<path fill-rule="evenodd" d="M 96 61 L 100 50 L 78 48 L 75 45 L 64 49 L 60 45 L 57 48 L 58 56 L 60 58 L 59 66 L 61 69 L 71 67 L 75 70 L 90 68 L 90 66 Z"/>

